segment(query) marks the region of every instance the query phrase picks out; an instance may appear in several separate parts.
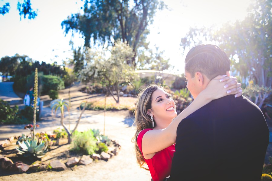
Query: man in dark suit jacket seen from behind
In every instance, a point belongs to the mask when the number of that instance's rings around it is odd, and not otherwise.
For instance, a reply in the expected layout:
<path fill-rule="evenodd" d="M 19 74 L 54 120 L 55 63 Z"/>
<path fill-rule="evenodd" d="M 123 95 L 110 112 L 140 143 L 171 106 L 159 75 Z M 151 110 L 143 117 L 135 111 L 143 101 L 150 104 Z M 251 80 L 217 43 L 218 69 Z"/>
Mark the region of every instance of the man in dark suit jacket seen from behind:
<path fill-rule="evenodd" d="M 185 59 L 187 88 L 195 99 L 229 70 L 218 46 L 196 46 Z M 213 100 L 179 123 L 169 180 L 259 181 L 268 142 L 267 123 L 254 103 L 233 95 Z"/>

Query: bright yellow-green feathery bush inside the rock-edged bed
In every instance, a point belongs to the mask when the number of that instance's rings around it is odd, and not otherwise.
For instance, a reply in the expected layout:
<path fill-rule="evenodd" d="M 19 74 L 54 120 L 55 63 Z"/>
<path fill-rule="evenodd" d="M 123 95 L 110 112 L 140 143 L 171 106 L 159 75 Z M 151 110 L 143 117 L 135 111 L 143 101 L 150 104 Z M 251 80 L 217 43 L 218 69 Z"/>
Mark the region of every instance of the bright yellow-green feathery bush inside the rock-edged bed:
<path fill-rule="evenodd" d="M 88 155 L 98 151 L 97 140 L 94 138 L 91 129 L 84 132 L 75 131 L 72 135 L 72 140 L 73 151 Z"/>

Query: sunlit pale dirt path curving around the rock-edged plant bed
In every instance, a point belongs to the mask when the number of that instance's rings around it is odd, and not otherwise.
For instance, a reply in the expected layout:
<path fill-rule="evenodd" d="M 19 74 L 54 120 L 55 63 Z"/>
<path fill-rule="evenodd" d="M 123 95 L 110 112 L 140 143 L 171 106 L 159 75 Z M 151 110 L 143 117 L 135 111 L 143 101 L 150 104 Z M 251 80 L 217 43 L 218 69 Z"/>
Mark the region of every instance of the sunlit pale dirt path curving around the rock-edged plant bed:
<path fill-rule="evenodd" d="M 79 87 L 72 87 L 71 90 L 71 129 L 74 128 L 77 117 L 80 111 L 77 109 L 79 103 L 85 98 L 102 98 L 98 95 L 93 96 L 78 92 Z M 60 97 L 68 98 L 68 89 L 60 92 Z M 46 97 L 42 97 L 46 102 Z M 66 118 L 68 115 L 66 115 Z M 60 113 L 57 117 L 51 115 L 51 109 L 48 105 L 44 106 L 40 128 L 37 132 L 53 131 L 61 127 Z M 68 124 L 66 122 L 66 124 Z M 144 169 L 139 169 L 136 164 L 136 157 L 134 155 L 133 143 L 131 138 L 135 133 L 135 128 L 132 127 L 132 117 L 128 111 L 112 112 L 107 111 L 105 117 L 105 135 L 108 135 L 112 140 L 116 140 L 121 145 L 120 153 L 108 160 L 107 162 L 100 160 L 97 163 L 92 163 L 87 166 L 77 166 L 73 170 L 66 171 L 41 171 L 37 173 L 22 173 L 8 175 L 1 173 L 0 180 L 39 180 L 39 181 L 54 181 L 54 180 L 142 180 L 149 181 L 151 179 L 150 173 Z M 10 125 L 0 126 L 0 140 L 6 139 L 9 136 L 21 135 L 21 133 L 28 133 L 23 129 L 24 125 Z M 100 129 L 103 133 L 104 129 L 104 112 L 103 111 L 89 111 L 86 110 L 80 120 L 78 126 L 79 131 L 87 129 Z M 0 153 L 1 154 L 1 153 Z M 2 171 L 2 170 L 1 170 Z"/>

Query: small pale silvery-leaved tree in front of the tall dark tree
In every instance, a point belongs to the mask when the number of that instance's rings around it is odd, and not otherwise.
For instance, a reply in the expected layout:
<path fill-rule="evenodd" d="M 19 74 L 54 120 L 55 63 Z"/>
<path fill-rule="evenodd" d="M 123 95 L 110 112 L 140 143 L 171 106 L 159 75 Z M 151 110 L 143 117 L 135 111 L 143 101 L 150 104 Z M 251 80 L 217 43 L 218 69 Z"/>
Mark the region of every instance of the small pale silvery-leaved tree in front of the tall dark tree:
<path fill-rule="evenodd" d="M 119 103 L 119 86 L 121 83 L 135 81 L 137 75 L 127 63 L 133 59 L 132 49 L 120 40 L 111 49 L 110 58 L 106 58 L 104 51 L 89 49 L 86 67 L 80 71 L 80 79 L 84 82 L 99 82 L 106 85 L 107 90 Z M 117 98 L 113 92 L 116 92 Z"/>

